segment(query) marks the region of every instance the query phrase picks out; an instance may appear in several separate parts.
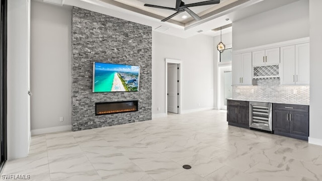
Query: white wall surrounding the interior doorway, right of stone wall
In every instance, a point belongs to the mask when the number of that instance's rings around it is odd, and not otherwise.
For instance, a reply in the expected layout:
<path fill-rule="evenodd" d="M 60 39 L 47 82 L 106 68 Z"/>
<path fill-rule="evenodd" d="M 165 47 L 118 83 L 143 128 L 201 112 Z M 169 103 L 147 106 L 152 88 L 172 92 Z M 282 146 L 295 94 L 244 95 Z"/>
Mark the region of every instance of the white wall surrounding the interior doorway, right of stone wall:
<path fill-rule="evenodd" d="M 213 108 L 213 39 L 152 32 L 152 115 L 165 114 L 165 58 L 182 60 L 182 112 Z M 200 106 L 199 106 L 200 104 Z M 157 110 L 159 108 L 159 110 Z"/>

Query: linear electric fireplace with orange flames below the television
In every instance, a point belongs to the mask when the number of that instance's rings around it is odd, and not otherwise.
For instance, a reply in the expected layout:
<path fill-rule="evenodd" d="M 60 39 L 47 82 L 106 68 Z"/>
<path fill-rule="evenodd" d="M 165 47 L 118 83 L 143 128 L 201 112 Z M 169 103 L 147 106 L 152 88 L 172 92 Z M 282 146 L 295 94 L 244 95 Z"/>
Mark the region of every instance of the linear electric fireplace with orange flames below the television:
<path fill-rule="evenodd" d="M 95 115 L 126 113 L 138 111 L 138 101 L 119 101 L 95 103 Z"/>

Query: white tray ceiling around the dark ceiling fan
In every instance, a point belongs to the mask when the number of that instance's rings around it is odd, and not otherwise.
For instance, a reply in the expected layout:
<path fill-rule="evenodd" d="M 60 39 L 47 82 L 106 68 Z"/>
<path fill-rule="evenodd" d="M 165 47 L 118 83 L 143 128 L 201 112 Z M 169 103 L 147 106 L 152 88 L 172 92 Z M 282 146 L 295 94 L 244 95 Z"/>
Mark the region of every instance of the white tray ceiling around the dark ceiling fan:
<path fill-rule="evenodd" d="M 41 0 L 34 0 L 41 1 Z M 182 38 L 199 33 L 216 36 L 220 32 L 214 29 L 229 25 L 240 19 L 254 16 L 299 0 L 221 0 L 219 4 L 190 9 L 202 18 L 195 21 L 188 13 L 183 12 L 167 22 L 160 20 L 172 15 L 175 11 L 145 7 L 144 4 L 175 8 L 176 0 L 43 0 L 57 4 L 75 6 L 116 18 L 151 26 L 152 30 Z M 185 4 L 207 0 L 184 0 Z M 59 3 L 58 3 L 59 4 Z M 187 16 L 183 18 L 183 16 Z M 161 27 L 161 28 L 159 28 Z M 222 33 L 231 31 L 223 29 Z"/>

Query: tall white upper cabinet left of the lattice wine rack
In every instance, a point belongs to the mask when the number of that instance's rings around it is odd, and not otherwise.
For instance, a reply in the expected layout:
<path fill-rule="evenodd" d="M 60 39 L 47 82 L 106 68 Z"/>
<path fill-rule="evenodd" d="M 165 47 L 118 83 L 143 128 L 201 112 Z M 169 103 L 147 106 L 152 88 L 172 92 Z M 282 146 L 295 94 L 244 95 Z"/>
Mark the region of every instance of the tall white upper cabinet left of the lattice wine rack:
<path fill-rule="evenodd" d="M 252 53 L 235 54 L 232 57 L 232 84 L 251 85 L 252 79 Z"/>

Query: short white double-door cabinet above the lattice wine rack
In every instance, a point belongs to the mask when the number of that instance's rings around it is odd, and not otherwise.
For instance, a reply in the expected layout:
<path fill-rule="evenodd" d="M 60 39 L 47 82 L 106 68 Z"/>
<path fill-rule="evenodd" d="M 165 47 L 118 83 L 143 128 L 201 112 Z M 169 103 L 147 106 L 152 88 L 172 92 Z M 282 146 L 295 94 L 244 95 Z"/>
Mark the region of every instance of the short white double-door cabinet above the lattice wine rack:
<path fill-rule="evenodd" d="M 271 48 L 253 52 L 253 66 L 280 63 L 280 48 Z"/>

